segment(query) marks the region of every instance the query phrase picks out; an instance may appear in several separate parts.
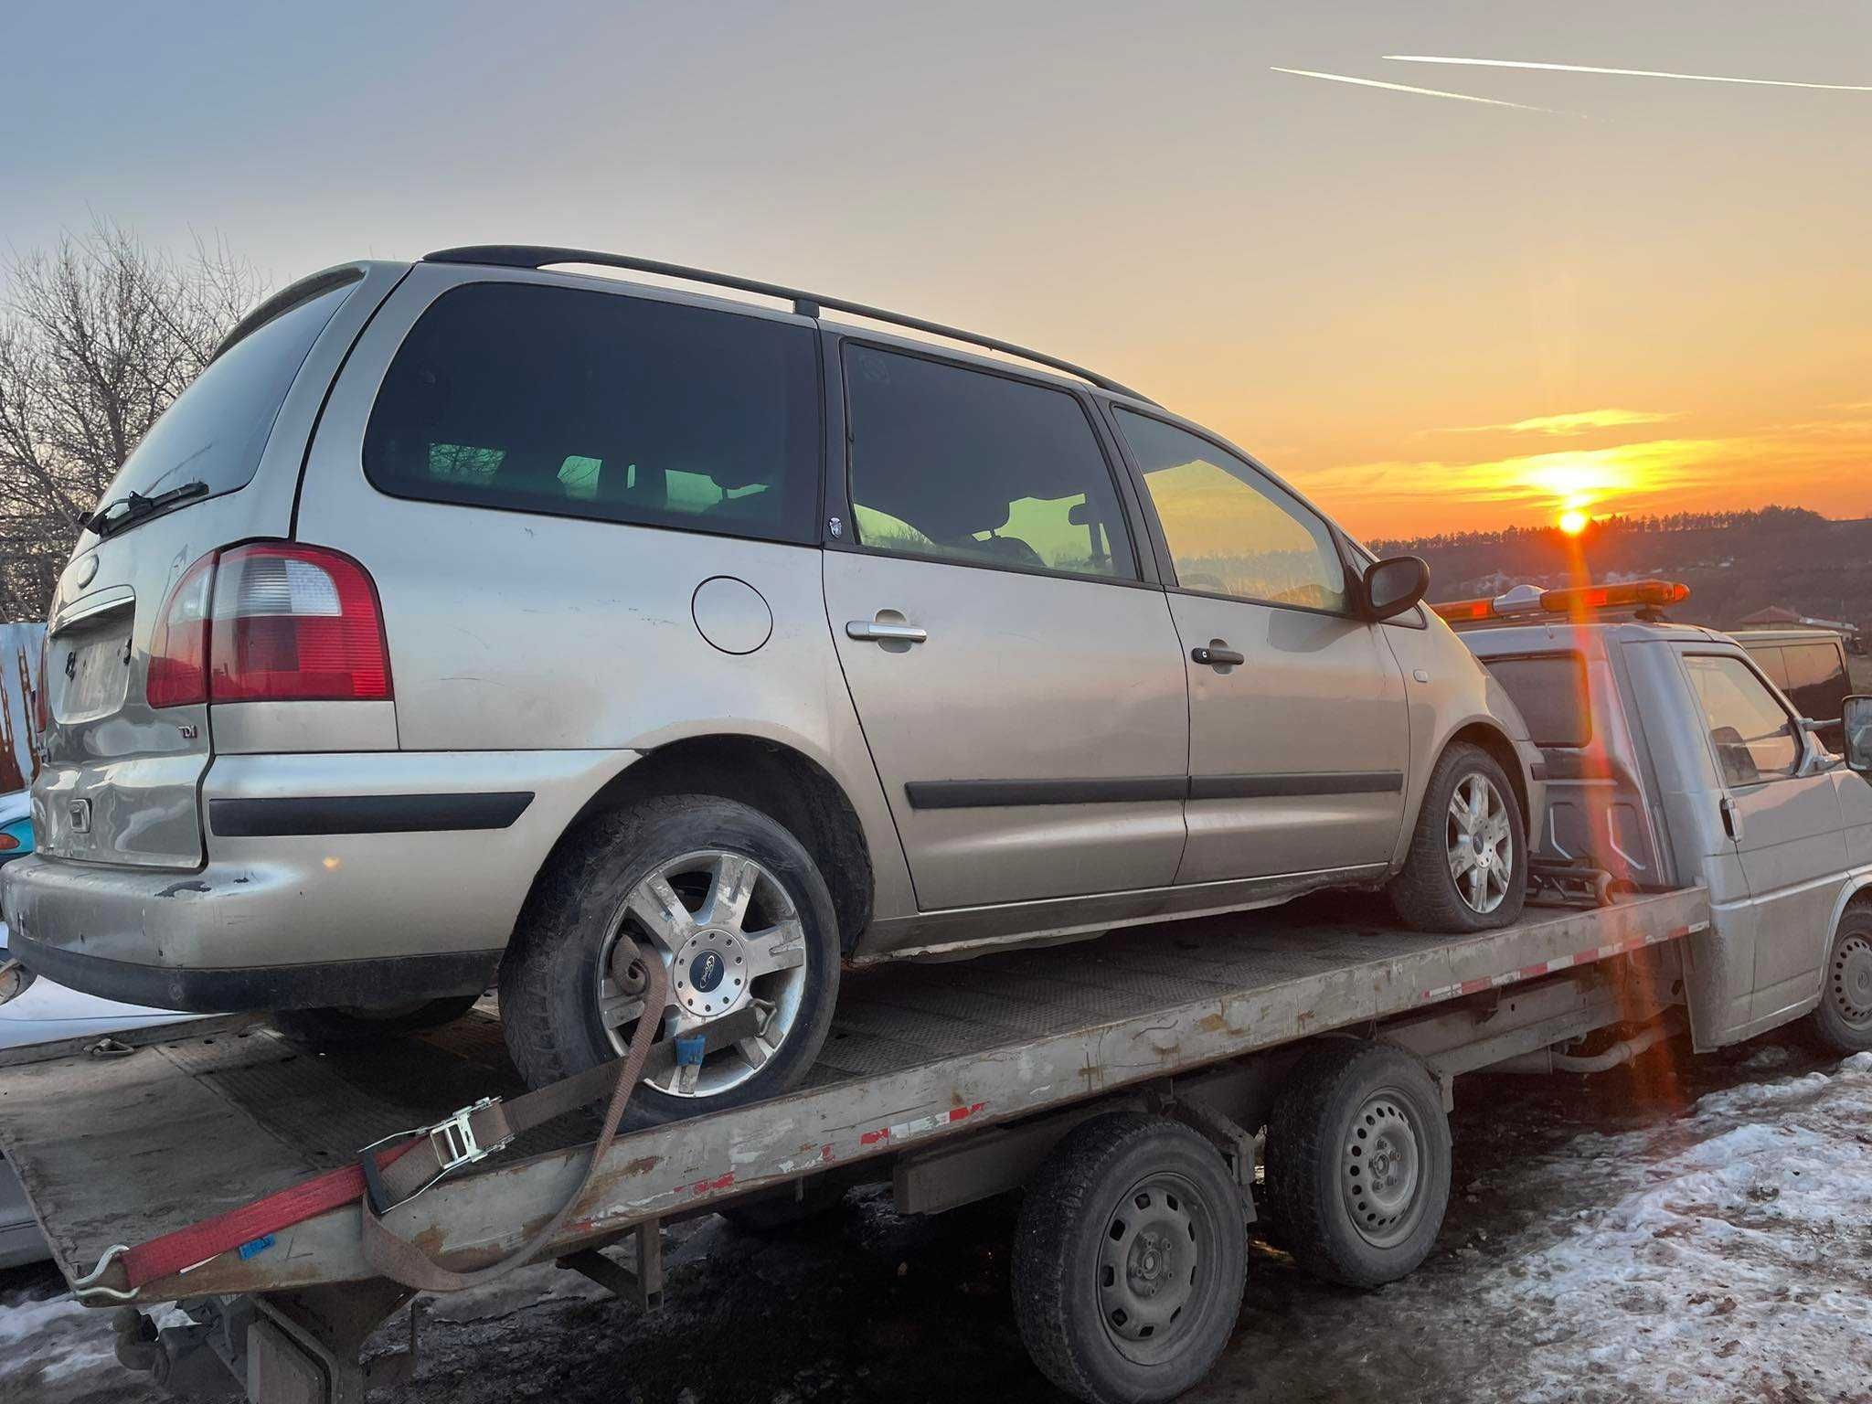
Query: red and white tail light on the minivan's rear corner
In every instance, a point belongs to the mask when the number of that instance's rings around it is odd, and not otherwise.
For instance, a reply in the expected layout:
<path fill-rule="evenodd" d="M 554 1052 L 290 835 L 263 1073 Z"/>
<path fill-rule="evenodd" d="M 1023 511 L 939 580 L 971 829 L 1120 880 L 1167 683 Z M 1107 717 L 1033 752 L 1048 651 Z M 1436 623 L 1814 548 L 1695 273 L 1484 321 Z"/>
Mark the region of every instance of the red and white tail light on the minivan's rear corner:
<path fill-rule="evenodd" d="M 388 700 L 376 586 L 322 547 L 260 541 L 204 556 L 163 608 L 148 687 L 154 708 Z"/>

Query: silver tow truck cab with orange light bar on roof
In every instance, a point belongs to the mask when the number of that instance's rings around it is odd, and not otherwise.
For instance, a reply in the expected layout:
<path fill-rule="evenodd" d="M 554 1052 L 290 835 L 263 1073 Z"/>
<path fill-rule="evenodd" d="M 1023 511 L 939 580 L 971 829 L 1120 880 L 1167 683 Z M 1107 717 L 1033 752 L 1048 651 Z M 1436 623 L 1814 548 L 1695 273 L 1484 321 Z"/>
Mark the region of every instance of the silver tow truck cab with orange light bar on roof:
<path fill-rule="evenodd" d="M 1709 889 L 1685 979 L 1696 1046 L 1717 1048 L 1820 1003 L 1833 934 L 1872 884 L 1872 784 L 1741 644 L 1662 616 L 1687 597 L 1640 580 L 1434 608 L 1546 762 L 1535 882 Z"/>

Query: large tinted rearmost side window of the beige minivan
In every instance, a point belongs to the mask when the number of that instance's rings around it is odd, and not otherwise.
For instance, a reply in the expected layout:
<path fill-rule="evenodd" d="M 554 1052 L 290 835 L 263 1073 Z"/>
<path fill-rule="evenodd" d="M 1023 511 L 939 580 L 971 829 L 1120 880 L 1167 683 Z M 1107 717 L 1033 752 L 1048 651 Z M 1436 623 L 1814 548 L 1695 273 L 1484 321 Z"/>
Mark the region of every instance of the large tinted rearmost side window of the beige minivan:
<path fill-rule="evenodd" d="M 365 431 L 395 496 L 812 541 L 812 331 L 526 283 L 442 294 Z"/>

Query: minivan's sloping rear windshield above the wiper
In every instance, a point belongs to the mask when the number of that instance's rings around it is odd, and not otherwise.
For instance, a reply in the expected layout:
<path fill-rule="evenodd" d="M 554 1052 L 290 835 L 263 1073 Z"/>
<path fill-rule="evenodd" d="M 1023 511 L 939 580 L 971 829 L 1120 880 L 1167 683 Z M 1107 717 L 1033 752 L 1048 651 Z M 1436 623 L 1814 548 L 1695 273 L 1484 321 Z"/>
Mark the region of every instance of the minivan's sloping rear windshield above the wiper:
<path fill-rule="evenodd" d="M 206 490 L 183 502 L 247 487 L 307 352 L 359 277 L 354 273 L 337 286 L 328 279 L 326 292 L 294 303 L 221 352 L 150 425 L 97 505 L 131 492 L 154 498 L 189 483 L 206 483 Z M 125 520 L 114 530 L 133 526 L 135 520 Z"/>

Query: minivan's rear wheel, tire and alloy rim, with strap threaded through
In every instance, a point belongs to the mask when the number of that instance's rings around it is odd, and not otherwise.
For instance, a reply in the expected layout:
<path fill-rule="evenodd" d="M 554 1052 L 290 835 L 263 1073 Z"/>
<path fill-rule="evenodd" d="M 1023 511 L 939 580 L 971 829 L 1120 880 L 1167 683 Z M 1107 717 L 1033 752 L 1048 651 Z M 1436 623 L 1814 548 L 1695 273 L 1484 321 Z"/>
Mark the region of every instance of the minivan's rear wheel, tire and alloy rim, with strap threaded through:
<path fill-rule="evenodd" d="M 734 893 L 723 889 L 732 885 L 728 874 L 749 870 L 754 876 L 736 917 Z M 681 917 L 655 897 L 659 882 L 681 904 Z M 713 906 L 717 897 L 724 906 Z M 758 945 L 751 940 L 782 929 Z M 635 1018 L 608 1024 L 601 1013 L 601 1002 L 631 1003 L 607 975 L 622 936 L 646 955 L 655 951 L 670 972 L 672 1003 L 653 1015 L 665 1024 L 659 1041 L 672 1037 L 678 1011 L 708 1020 L 749 998 L 771 1005 L 760 1039 L 708 1052 L 691 1090 L 674 1067 L 646 1076 L 623 1129 L 762 1101 L 812 1067 L 839 996 L 839 919 L 811 854 L 775 820 L 734 799 L 661 796 L 601 814 L 560 844 L 500 964 L 507 1052 L 528 1086 L 623 1052 Z M 717 951 L 721 960 L 706 968 Z M 741 960 L 753 972 L 775 958 L 788 964 L 749 973 L 738 988 Z M 719 983 L 704 988 L 698 973 Z"/>

